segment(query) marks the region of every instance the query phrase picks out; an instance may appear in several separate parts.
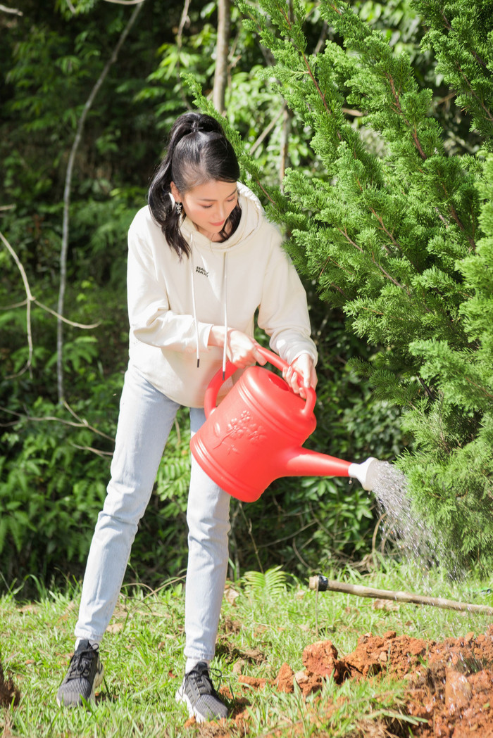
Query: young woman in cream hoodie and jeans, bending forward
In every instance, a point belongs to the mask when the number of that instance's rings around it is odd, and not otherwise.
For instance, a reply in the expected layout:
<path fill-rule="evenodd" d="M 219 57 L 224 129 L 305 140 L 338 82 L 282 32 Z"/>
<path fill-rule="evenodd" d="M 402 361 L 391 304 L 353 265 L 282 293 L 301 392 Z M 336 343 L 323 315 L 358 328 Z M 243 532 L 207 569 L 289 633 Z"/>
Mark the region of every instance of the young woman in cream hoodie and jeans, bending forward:
<path fill-rule="evenodd" d="M 61 705 L 93 698 L 101 683 L 98 646 L 178 408 L 190 408 L 196 432 L 205 420 L 205 389 L 225 360 L 239 369 L 265 363 L 253 337 L 256 311 L 271 348 L 288 362 L 285 379 L 293 390 L 304 394 L 316 386 L 304 289 L 278 230 L 238 178 L 237 157 L 220 124 L 186 113 L 171 128 L 149 205 L 130 227 L 129 367 L 108 494 L 84 576 L 75 653 L 58 689 Z M 229 388 L 231 380 L 222 393 Z M 229 500 L 192 458 L 186 664 L 176 698 L 199 721 L 228 714 L 208 665 L 228 565 Z"/>

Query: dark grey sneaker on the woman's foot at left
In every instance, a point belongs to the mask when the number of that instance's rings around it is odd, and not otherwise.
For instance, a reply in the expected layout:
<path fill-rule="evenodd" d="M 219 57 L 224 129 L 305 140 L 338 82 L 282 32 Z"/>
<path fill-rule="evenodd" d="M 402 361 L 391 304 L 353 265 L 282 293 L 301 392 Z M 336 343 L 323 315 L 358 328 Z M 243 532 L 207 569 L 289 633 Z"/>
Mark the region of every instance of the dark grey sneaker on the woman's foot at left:
<path fill-rule="evenodd" d="M 82 700 L 94 700 L 95 689 L 103 681 L 103 664 L 99 649 L 94 649 L 89 641 L 81 641 L 70 659 L 69 670 L 58 692 L 56 701 L 61 707 L 82 705 Z"/>

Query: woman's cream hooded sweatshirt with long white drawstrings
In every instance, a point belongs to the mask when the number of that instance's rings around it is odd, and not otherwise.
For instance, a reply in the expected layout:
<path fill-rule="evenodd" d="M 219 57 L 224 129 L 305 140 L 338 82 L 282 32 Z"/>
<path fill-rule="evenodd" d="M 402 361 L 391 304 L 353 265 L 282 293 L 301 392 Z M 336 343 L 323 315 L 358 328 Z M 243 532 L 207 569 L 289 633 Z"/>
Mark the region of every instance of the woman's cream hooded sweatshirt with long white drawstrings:
<path fill-rule="evenodd" d="M 130 359 L 157 390 L 187 407 L 203 407 L 222 365 L 222 348 L 207 345 L 212 326 L 253 336 L 257 309 L 273 351 L 288 364 L 305 352 L 316 361 L 305 290 L 281 235 L 254 193 L 243 184 L 238 190 L 242 215 L 234 234 L 209 241 L 185 218 L 191 256 L 181 261 L 149 207 L 129 229 Z M 228 380 L 220 396 L 230 387 Z"/>

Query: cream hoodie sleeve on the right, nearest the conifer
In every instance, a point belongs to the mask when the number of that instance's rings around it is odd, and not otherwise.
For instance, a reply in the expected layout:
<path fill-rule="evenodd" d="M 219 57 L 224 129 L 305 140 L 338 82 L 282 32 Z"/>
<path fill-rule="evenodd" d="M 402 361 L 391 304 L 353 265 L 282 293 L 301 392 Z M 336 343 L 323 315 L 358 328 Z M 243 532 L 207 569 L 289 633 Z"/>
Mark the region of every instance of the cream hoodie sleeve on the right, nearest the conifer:
<path fill-rule="evenodd" d="M 269 345 L 290 364 L 300 354 L 310 354 L 316 363 L 317 351 L 310 338 L 307 296 L 302 282 L 282 249 L 273 238 L 259 306 L 258 324 L 271 337 Z"/>

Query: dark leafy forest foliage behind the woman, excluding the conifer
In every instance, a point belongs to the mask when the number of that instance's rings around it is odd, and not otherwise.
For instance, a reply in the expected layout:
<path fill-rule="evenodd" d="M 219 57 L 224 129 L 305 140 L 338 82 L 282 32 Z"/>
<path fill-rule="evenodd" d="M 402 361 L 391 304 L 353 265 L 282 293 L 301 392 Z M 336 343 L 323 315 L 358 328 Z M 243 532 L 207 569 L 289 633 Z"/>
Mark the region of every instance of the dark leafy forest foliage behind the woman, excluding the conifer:
<path fill-rule="evenodd" d="M 145 203 L 166 129 L 191 107 L 180 73 L 189 72 L 206 90 L 211 86 L 216 5 L 192 0 L 178 35 L 182 8 L 162 13 L 158 4 L 146 2 L 87 117 L 72 173 L 65 317 L 98 327 L 64 329 L 69 408 L 56 405 L 56 318 L 47 311 L 57 304 L 67 160 L 81 111 L 132 8 L 101 0 L 50 6 L 18 0 L 16 8 L 23 15 L 0 13 L 0 230 L 25 269 L 35 302 L 30 306 L 33 357 L 28 366 L 26 295 L 18 267 L 2 246 L 0 562 L 10 580 L 30 572 L 49 580 L 56 572 L 58 577 L 81 576 L 103 503 L 127 356 L 126 231 Z M 395 43 L 415 48 L 414 16 L 405 3 L 393 15 L 378 4 L 366 4 L 362 12 L 368 23 L 392 28 Z M 313 48 L 326 31 L 318 8 L 310 6 L 307 35 Z M 233 8 L 228 120 L 268 186 L 279 182 L 287 122 L 290 164 L 307 173 L 316 167 L 302 117 L 286 117 L 282 99 L 273 98 L 256 76 L 272 61 Z M 371 432 L 382 458 L 395 455 L 398 444 L 389 438 L 388 427 L 381 424 L 373 432 L 370 424 L 358 421 L 361 406 L 373 400 L 367 384 L 345 364 L 364 349 L 347 337 L 336 312 L 330 315 L 333 328 L 327 339 L 327 309 L 310 282 L 307 289 L 323 354 L 319 438 L 313 443 L 323 452 L 356 459 L 367 453 Z M 382 412 L 383 418 L 393 411 Z M 157 582 L 186 565 L 187 426 L 186 413 L 180 413 L 149 512 L 140 523 L 129 578 Z M 238 576 L 259 560 L 264 568 L 273 559 L 305 571 L 306 563 L 316 567 L 321 557 L 364 552 L 373 528 L 373 503 L 361 491 L 348 497 L 346 486 L 329 480 L 304 480 L 302 486 L 299 480 L 285 480 L 272 492 L 257 506 L 233 503 L 231 570 Z M 332 531 L 328 537 L 322 530 L 312 535 L 319 514 Z M 279 525 L 285 528 L 280 544 Z M 299 548 L 303 562 L 296 556 Z"/>

